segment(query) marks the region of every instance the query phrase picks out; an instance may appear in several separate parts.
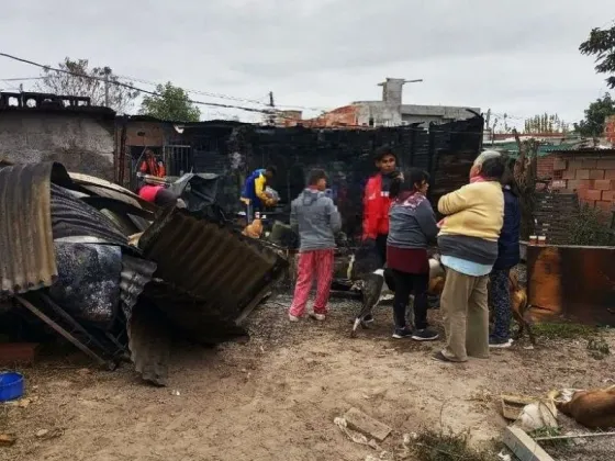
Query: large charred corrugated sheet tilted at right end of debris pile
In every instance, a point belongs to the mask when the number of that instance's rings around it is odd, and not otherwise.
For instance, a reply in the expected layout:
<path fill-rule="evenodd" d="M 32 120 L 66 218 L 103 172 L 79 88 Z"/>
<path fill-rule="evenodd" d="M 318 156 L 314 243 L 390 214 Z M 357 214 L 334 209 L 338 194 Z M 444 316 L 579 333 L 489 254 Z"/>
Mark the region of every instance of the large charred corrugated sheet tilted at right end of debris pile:
<path fill-rule="evenodd" d="M 138 245 L 158 265 L 154 277 L 170 285 L 148 285 L 146 295 L 177 326 L 202 339 L 216 336 L 216 329 L 233 330 L 288 267 L 258 241 L 177 209 L 154 222 Z"/>

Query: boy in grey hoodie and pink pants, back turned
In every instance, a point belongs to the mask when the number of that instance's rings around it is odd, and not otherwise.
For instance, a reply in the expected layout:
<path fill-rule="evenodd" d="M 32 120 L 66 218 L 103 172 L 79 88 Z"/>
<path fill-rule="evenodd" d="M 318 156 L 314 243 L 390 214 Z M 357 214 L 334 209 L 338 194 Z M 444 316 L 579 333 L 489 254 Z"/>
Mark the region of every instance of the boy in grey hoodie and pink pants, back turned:
<path fill-rule="evenodd" d="M 305 305 L 316 276 L 316 299 L 314 313 L 316 321 L 324 321 L 333 280 L 333 256 L 335 234 L 342 228 L 342 218 L 333 200 L 325 194 L 326 173 L 313 170 L 308 188 L 292 201 L 290 225 L 299 233 L 299 265 L 294 297 L 289 311 L 289 319 L 298 322 L 305 313 Z"/>

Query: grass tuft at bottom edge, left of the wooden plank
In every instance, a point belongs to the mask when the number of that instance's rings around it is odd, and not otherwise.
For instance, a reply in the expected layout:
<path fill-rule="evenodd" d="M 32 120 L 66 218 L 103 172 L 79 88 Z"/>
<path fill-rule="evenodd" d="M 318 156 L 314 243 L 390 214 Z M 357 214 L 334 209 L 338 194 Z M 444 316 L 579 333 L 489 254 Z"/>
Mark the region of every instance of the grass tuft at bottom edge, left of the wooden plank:
<path fill-rule="evenodd" d="M 413 441 L 416 461 L 493 461 L 497 452 L 470 447 L 469 432 L 454 434 L 423 429 Z"/>

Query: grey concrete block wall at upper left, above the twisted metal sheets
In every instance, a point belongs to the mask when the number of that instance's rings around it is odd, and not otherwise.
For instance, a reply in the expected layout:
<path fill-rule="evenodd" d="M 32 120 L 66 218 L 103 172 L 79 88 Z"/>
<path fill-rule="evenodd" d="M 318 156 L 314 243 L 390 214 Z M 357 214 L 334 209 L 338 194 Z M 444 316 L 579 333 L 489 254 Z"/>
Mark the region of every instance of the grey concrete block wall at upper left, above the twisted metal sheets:
<path fill-rule="evenodd" d="M 0 158 L 59 161 L 67 170 L 113 180 L 115 122 L 97 114 L 0 111 Z"/>

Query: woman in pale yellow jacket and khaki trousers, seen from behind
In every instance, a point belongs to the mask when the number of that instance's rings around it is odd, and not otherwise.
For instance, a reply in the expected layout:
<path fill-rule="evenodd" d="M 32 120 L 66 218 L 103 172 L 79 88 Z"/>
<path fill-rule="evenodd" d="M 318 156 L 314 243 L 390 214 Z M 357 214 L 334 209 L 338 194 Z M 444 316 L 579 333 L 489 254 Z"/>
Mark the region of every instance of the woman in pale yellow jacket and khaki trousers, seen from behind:
<path fill-rule="evenodd" d="M 488 150 L 474 161 L 470 183 L 444 195 L 438 211 L 438 247 L 446 268 L 440 297 L 446 347 L 434 359 L 465 362 L 468 356 L 489 357 L 487 282 L 497 259 L 497 238 L 504 217 L 500 153 Z"/>

